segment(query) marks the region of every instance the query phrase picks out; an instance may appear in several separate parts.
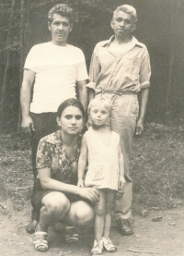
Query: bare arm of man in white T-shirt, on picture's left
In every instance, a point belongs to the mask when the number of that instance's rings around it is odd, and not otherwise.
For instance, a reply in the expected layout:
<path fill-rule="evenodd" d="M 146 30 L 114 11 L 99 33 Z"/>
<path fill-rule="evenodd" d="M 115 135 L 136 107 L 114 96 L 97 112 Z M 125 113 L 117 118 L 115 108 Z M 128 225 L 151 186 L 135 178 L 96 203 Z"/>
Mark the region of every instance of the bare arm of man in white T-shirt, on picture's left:
<path fill-rule="evenodd" d="M 34 130 L 34 124 L 29 116 L 29 105 L 31 97 L 31 88 L 35 79 L 35 73 L 29 69 L 24 69 L 22 86 L 20 89 L 20 104 L 22 111 L 22 124 L 21 128 L 24 133 L 31 134 Z"/>

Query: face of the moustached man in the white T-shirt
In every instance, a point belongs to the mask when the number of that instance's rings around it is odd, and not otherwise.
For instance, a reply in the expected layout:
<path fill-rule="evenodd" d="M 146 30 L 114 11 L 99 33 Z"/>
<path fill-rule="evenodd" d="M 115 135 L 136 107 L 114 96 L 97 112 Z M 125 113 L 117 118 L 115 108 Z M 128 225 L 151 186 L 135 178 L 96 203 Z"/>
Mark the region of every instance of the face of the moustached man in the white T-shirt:
<path fill-rule="evenodd" d="M 69 33 L 72 31 L 73 25 L 67 17 L 63 17 L 54 13 L 52 23 L 48 23 L 49 30 L 52 31 L 52 43 L 57 45 L 65 45 Z"/>

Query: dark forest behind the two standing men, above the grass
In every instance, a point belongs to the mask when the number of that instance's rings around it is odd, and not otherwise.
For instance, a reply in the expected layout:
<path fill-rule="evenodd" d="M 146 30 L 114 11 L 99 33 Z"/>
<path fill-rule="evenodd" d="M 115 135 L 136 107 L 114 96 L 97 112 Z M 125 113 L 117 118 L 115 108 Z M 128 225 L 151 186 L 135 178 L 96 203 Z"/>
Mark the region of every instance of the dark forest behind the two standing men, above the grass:
<path fill-rule="evenodd" d="M 169 124 L 184 109 L 183 0 L 0 0 L 0 128 L 16 131 L 21 122 L 19 91 L 30 48 L 51 40 L 47 13 L 57 3 L 75 10 L 69 42 L 86 55 L 87 68 L 96 43 L 112 35 L 112 11 L 122 4 L 136 8 L 133 35 L 150 53 L 152 77 L 146 120 Z"/>

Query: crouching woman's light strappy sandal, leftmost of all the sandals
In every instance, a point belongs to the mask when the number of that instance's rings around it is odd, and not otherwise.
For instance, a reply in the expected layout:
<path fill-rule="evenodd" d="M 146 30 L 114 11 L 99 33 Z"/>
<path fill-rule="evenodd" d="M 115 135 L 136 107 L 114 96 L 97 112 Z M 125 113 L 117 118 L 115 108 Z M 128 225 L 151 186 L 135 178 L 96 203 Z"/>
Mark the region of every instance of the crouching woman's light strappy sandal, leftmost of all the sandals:
<path fill-rule="evenodd" d="M 35 232 L 35 238 L 33 241 L 35 250 L 44 252 L 48 250 L 47 233 L 46 232 Z"/>

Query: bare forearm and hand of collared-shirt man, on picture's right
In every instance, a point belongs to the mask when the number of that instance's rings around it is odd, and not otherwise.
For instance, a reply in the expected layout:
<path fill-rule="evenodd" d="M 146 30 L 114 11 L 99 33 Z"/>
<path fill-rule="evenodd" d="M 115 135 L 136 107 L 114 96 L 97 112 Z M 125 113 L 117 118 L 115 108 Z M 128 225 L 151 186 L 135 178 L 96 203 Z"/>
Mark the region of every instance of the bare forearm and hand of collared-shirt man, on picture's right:
<path fill-rule="evenodd" d="M 144 117 L 149 95 L 149 87 L 143 88 L 138 95 L 139 98 L 139 116 L 135 128 L 135 135 L 140 136 L 144 131 Z"/>

